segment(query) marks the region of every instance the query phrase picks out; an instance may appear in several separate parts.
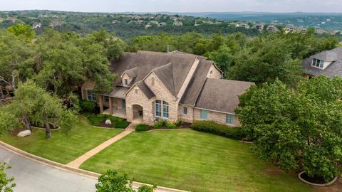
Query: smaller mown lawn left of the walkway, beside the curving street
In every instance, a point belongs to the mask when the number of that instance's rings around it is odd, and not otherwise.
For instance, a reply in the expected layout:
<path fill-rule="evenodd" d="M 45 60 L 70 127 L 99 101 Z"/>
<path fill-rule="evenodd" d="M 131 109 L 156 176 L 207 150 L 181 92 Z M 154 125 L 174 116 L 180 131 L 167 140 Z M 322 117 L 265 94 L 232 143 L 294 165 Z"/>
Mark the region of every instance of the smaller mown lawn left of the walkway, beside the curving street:
<path fill-rule="evenodd" d="M 29 137 L 20 138 L 7 134 L 0 137 L 0 140 L 28 153 L 67 164 L 122 131 L 96 128 L 83 117 L 78 117 L 78 122 L 68 137 L 56 130 L 51 132 L 51 139 L 45 139 L 44 130 L 33 129 L 33 134 Z"/>

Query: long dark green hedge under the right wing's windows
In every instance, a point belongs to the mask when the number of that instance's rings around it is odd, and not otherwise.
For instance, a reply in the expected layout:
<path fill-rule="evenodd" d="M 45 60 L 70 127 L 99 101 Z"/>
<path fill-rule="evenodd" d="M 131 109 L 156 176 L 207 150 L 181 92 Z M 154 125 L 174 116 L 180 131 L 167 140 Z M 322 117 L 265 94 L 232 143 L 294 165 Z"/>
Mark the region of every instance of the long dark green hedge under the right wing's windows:
<path fill-rule="evenodd" d="M 195 121 L 191 128 L 199 132 L 209 132 L 223 137 L 241 140 L 245 136 L 240 127 L 229 127 L 213 121 Z"/>

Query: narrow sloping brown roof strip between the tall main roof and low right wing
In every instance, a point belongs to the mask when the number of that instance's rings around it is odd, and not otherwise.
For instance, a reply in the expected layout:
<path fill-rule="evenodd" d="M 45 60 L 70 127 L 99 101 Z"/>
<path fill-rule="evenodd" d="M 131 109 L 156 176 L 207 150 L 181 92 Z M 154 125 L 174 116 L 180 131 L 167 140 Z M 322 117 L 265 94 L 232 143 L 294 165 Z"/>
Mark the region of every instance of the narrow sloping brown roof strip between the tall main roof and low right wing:
<path fill-rule="evenodd" d="M 192 79 L 190 80 L 189 85 L 187 86 L 187 90 L 185 90 L 180 103 L 185 105 L 195 105 L 197 97 L 202 90 L 211 65 L 211 60 L 201 60 L 198 63 L 195 73 L 192 76 Z"/>

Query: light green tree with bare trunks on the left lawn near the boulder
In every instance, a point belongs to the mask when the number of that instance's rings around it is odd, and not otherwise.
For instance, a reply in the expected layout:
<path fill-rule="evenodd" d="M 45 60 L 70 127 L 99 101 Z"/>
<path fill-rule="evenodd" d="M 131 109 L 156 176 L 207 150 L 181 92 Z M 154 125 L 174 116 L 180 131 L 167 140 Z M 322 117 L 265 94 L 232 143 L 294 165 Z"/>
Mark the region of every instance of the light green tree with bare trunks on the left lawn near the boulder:
<path fill-rule="evenodd" d="M 1 108 L 0 130 L 13 129 L 21 121 L 26 129 L 31 129 L 31 122 L 36 122 L 46 128 L 48 139 L 51 137 L 51 122 L 61 126 L 62 132 L 68 134 L 76 120 L 73 110 L 66 109 L 61 99 L 50 95 L 32 80 L 19 84 L 14 95 L 14 100 Z"/>

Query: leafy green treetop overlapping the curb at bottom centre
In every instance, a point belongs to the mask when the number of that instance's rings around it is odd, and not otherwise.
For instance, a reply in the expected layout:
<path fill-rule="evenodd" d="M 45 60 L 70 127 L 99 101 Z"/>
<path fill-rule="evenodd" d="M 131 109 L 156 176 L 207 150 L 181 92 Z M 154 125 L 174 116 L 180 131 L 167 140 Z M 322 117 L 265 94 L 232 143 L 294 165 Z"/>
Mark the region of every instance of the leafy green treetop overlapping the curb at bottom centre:
<path fill-rule="evenodd" d="M 118 171 L 108 170 L 98 177 L 98 183 L 95 184 L 97 192 L 133 192 L 133 181 L 128 180 L 128 175 L 118 174 Z M 156 186 L 142 185 L 138 188 L 138 192 L 153 192 Z"/>

